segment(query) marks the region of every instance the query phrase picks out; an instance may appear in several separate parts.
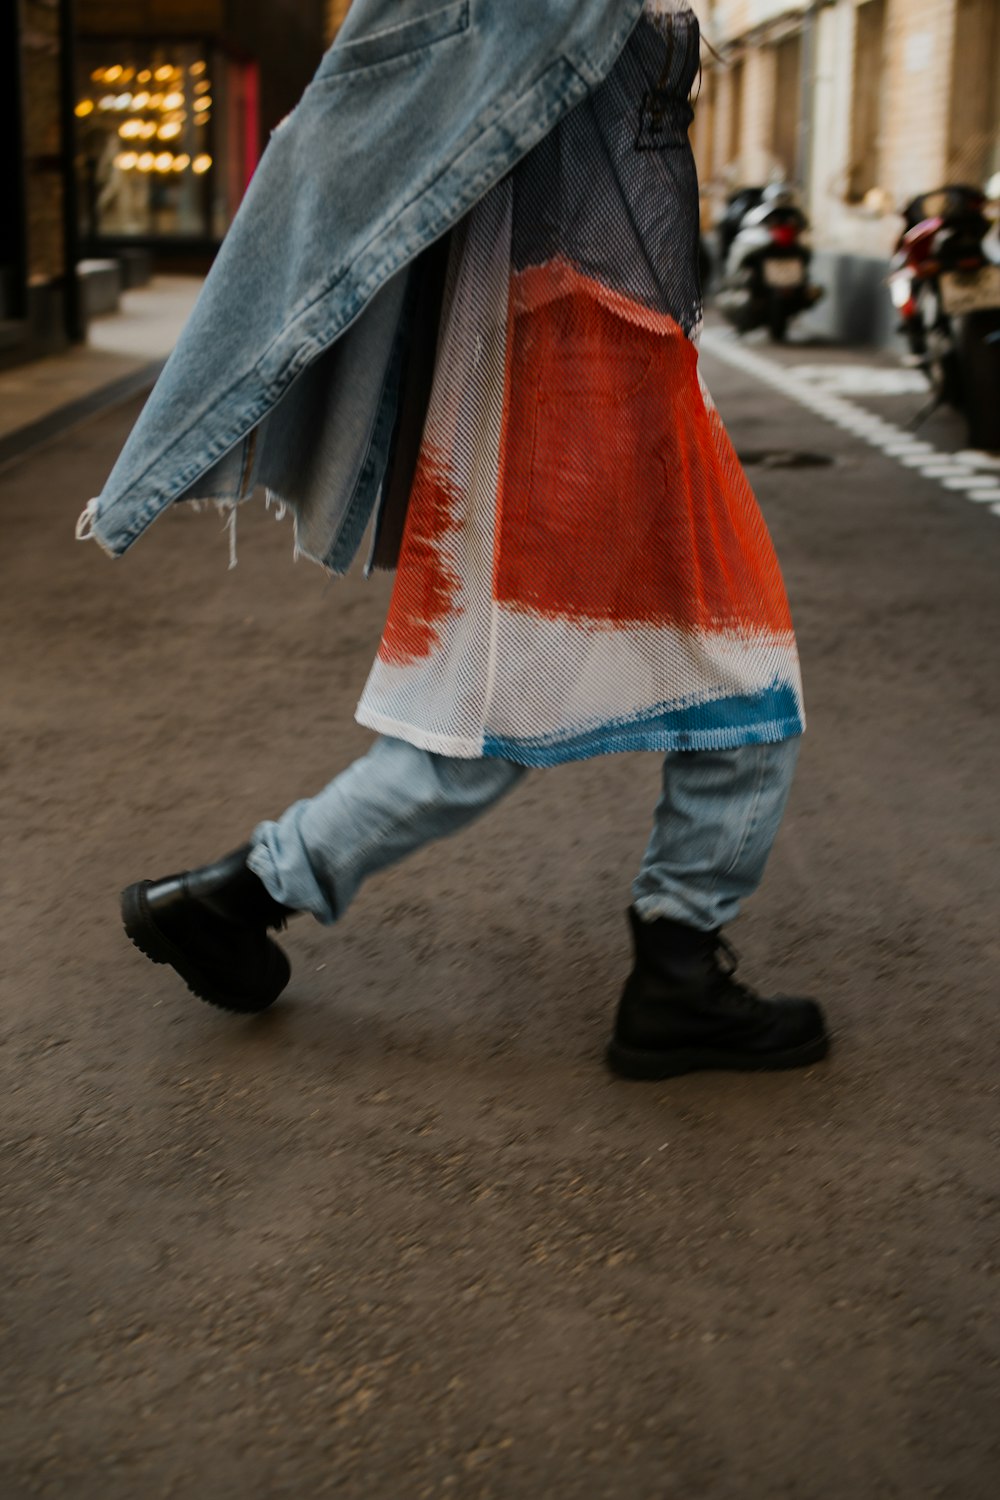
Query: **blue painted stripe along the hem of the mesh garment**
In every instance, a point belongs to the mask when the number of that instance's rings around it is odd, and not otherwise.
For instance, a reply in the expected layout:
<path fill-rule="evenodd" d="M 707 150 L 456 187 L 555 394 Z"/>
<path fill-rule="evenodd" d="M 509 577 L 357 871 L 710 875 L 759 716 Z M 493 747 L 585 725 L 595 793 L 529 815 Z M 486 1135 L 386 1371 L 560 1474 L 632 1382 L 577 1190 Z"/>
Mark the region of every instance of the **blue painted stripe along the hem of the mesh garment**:
<path fill-rule="evenodd" d="M 792 740 L 802 729 L 796 690 L 775 678 L 760 693 L 717 698 L 709 704 L 660 705 L 577 735 L 540 735 L 532 740 L 486 735 L 483 754 L 517 765 L 546 766 L 624 750 L 735 750 Z"/>

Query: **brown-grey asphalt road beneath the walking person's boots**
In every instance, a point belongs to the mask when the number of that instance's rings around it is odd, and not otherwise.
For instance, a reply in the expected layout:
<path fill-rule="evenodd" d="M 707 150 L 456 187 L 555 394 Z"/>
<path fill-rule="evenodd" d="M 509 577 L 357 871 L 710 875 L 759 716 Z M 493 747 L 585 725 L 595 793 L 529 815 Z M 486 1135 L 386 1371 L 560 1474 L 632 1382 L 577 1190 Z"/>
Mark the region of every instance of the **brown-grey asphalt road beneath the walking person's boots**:
<path fill-rule="evenodd" d="M 834 460 L 753 471 L 810 732 L 732 936 L 828 1008 L 799 1074 L 603 1070 L 654 756 L 199 1005 L 117 892 L 364 748 L 388 580 L 256 506 L 235 572 L 214 514 L 79 546 L 133 405 L 0 476 L 6 1500 L 997 1492 L 1000 518 L 705 368 L 741 448 Z"/>

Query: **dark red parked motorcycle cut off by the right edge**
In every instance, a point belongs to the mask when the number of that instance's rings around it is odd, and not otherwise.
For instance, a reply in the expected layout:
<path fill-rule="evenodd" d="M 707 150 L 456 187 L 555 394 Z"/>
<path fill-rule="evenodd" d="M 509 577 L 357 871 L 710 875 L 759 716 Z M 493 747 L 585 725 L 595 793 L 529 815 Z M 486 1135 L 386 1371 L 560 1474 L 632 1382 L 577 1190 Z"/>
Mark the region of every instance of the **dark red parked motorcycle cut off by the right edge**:
<path fill-rule="evenodd" d="M 1000 264 L 979 188 L 921 194 L 903 210 L 889 266 L 909 363 L 963 411 L 972 447 L 1000 447 Z"/>

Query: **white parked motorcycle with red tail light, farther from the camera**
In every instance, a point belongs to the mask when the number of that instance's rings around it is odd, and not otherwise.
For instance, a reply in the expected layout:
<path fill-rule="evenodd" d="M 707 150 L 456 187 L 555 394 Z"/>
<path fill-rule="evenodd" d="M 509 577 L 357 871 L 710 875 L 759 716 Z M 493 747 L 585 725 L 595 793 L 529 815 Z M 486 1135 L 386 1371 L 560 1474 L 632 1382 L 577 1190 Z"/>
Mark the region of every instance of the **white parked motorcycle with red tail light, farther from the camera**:
<path fill-rule="evenodd" d="M 781 344 L 792 318 L 813 308 L 823 288 L 810 282 L 808 219 L 784 183 L 741 188 L 717 228 L 721 280 L 715 304 L 738 333 L 768 328 Z"/>

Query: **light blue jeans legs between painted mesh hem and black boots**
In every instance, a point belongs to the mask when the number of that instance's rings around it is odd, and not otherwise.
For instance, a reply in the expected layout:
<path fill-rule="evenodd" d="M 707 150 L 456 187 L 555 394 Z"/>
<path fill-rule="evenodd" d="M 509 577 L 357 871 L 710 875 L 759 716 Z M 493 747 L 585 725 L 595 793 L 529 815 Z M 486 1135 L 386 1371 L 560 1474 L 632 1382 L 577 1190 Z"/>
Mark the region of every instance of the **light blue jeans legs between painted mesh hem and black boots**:
<path fill-rule="evenodd" d="M 736 916 L 760 885 L 798 753 L 798 740 L 783 740 L 664 758 L 633 884 L 643 921 L 672 916 L 711 932 Z M 259 824 L 247 864 L 277 902 L 333 922 L 369 874 L 465 828 L 522 776 L 511 760 L 456 760 L 381 738 L 318 796 Z"/>

